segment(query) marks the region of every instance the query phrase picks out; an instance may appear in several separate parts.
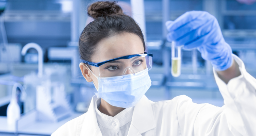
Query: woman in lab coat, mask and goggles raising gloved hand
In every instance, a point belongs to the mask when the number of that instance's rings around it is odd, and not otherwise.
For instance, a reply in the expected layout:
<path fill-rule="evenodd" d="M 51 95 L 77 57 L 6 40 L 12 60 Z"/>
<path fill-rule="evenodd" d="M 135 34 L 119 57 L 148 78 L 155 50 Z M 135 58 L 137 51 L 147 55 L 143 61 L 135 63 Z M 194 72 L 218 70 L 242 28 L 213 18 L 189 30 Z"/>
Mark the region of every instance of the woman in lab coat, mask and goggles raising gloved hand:
<path fill-rule="evenodd" d="M 193 103 L 187 96 L 152 102 L 152 54 L 145 52 L 138 24 L 116 2 L 88 7 L 94 18 L 79 40 L 80 69 L 98 93 L 88 112 L 53 136 L 253 136 L 256 135 L 256 80 L 232 54 L 217 20 L 207 12 L 187 12 L 166 23 L 169 41 L 195 48 L 211 61 L 225 105 Z"/>

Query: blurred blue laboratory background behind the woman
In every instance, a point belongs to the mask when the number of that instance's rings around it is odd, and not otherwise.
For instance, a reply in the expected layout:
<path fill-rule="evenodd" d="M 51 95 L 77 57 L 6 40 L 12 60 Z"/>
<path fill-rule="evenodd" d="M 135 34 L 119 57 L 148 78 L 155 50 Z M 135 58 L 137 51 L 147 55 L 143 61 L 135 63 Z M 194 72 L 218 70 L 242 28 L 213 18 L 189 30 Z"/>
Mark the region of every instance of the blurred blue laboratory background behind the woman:
<path fill-rule="evenodd" d="M 97 90 L 79 68 L 79 36 L 92 19 L 95 0 L 0 1 L 0 136 L 50 136 L 87 112 Z M 165 22 L 187 11 L 215 16 L 233 54 L 256 78 L 256 1 L 118 0 L 145 36 L 153 53 L 146 92 L 156 102 L 179 95 L 195 103 L 223 106 L 212 65 L 197 49 L 181 48 L 180 75 L 172 75 L 172 44 Z"/>

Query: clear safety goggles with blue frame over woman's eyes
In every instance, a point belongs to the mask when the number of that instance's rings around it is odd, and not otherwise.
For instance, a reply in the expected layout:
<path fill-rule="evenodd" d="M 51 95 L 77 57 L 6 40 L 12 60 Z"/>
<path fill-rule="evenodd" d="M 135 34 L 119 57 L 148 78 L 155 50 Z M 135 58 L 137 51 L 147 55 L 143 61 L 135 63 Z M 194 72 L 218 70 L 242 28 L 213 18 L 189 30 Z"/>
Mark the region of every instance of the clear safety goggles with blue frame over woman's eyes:
<path fill-rule="evenodd" d="M 116 77 L 122 79 L 126 74 L 135 75 L 140 71 L 150 70 L 152 68 L 152 57 L 153 54 L 144 52 L 144 54 L 127 55 L 99 63 L 85 60 L 81 60 L 81 62 L 90 65 L 90 70 L 98 78 Z"/>

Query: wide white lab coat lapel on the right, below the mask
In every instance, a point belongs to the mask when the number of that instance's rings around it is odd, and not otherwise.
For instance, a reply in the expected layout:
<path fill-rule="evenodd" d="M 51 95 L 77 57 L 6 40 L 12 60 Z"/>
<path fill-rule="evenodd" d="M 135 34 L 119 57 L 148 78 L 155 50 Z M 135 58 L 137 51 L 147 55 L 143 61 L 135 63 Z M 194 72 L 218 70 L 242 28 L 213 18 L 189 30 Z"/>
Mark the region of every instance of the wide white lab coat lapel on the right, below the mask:
<path fill-rule="evenodd" d="M 134 106 L 128 136 L 141 136 L 142 133 L 154 128 L 156 128 L 156 123 L 152 106 L 150 101 L 144 95 L 138 104 Z"/>

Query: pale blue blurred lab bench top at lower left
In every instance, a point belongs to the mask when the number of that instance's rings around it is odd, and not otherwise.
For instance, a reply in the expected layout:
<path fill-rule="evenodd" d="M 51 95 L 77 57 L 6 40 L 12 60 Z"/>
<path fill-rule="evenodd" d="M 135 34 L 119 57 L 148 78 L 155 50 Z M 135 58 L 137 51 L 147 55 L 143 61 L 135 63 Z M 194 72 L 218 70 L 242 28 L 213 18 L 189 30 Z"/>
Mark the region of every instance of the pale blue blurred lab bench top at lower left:
<path fill-rule="evenodd" d="M 28 117 L 25 117 L 25 120 L 32 120 L 32 121 L 18 123 L 18 125 L 21 125 L 21 126 L 18 126 L 17 132 L 8 130 L 6 116 L 0 116 L 0 122 L 1 122 L 0 136 L 4 136 L 4 135 L 50 136 L 60 126 L 81 115 L 82 115 L 81 113 L 73 113 L 69 118 L 63 119 L 59 122 L 39 122 L 39 121 L 33 121 L 33 118 L 36 117 L 35 114 L 32 114 L 32 115 L 30 114 Z"/>

